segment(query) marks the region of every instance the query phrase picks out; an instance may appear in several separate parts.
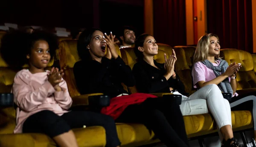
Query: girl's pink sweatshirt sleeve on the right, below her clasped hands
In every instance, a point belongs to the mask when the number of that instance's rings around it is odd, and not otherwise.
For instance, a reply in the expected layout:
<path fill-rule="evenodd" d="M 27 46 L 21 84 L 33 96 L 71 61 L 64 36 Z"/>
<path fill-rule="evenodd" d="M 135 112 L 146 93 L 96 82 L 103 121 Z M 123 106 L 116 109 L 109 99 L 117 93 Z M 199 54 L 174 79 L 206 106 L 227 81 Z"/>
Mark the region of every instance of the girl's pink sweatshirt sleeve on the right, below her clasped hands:
<path fill-rule="evenodd" d="M 67 82 L 64 79 L 62 80 L 63 82 L 59 83 L 62 91 L 55 91 L 54 98 L 56 102 L 58 102 L 58 105 L 60 105 L 63 109 L 68 110 L 72 105 L 72 99 L 67 90 Z"/>

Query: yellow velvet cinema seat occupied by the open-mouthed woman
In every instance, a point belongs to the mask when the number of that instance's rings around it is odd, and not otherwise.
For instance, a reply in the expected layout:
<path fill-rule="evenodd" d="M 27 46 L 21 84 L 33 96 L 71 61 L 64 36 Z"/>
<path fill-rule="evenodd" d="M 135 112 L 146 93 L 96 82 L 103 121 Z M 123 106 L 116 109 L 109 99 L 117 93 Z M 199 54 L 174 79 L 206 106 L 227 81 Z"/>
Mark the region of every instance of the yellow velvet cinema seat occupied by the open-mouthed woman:
<path fill-rule="evenodd" d="M 70 96 L 72 98 L 81 97 L 80 102 L 83 104 L 88 104 L 87 97 L 89 95 L 80 95 L 79 91 L 76 88 L 76 83 L 73 75 L 73 66 L 79 61 L 79 56 L 77 54 L 77 40 L 63 40 L 59 44 L 59 57 L 61 68 L 64 69 L 64 79 L 67 81 L 68 89 Z M 116 45 L 116 51 L 121 57 L 119 47 Z M 90 70 L 90 69 L 88 69 Z M 102 94 L 102 93 L 96 93 Z M 75 102 L 79 102 L 73 100 Z M 86 103 L 84 102 L 86 101 Z M 122 147 L 134 147 L 144 144 L 150 144 L 158 142 L 158 139 L 153 139 L 154 133 L 149 131 L 143 124 L 125 124 L 117 123 L 116 124 L 117 133 L 120 141 L 122 142 Z M 90 132 L 89 132 L 90 133 Z M 103 131 L 95 130 L 95 133 L 102 135 Z M 93 134 L 90 137 L 84 138 L 83 136 L 76 136 L 78 140 L 85 139 L 88 144 L 91 144 L 91 141 L 96 138 Z M 103 141 L 104 140 L 104 141 Z M 100 138 L 99 144 L 103 146 L 102 142 L 105 142 L 105 139 Z"/>

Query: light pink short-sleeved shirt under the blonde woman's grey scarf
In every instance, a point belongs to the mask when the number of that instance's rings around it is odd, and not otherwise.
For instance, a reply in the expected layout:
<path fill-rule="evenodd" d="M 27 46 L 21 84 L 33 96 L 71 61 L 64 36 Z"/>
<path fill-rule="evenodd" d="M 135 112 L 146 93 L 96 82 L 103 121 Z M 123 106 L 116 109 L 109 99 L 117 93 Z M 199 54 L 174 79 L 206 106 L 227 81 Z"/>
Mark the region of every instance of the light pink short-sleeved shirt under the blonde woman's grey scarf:
<path fill-rule="evenodd" d="M 220 62 L 212 63 L 213 66 L 218 66 L 219 64 L 220 64 Z M 204 65 L 203 63 L 196 62 L 192 68 L 192 78 L 193 78 L 194 88 L 200 88 L 197 86 L 197 82 L 199 82 L 199 81 L 208 82 L 212 79 L 215 79 L 216 75 L 212 71 L 212 69 L 207 68 L 207 66 Z M 228 79 L 230 81 L 230 77 L 228 77 Z M 237 93 L 235 93 L 233 96 L 235 96 L 235 95 L 238 96 Z"/>

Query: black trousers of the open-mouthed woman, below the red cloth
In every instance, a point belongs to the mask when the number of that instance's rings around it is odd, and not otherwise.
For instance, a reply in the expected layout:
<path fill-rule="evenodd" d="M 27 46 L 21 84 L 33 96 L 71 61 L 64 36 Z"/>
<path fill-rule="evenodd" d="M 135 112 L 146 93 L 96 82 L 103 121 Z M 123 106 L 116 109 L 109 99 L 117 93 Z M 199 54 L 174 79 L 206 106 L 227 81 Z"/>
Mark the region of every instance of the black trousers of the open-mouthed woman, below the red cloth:
<path fill-rule="evenodd" d="M 189 147 L 180 107 L 172 98 L 149 98 L 130 105 L 116 122 L 142 123 L 168 147 Z"/>

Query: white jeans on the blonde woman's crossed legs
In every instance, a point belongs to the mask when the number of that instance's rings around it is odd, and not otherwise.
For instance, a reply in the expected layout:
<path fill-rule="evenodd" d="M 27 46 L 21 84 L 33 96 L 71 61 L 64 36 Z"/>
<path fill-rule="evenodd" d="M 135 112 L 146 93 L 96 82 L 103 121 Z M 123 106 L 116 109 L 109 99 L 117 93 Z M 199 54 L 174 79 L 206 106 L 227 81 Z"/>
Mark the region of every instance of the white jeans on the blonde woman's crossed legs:
<path fill-rule="evenodd" d="M 212 113 L 218 128 L 225 125 L 232 126 L 230 104 L 227 99 L 223 98 L 217 85 L 204 86 L 191 96 L 182 97 L 180 110 L 183 116 L 208 113 L 207 108 Z"/>

